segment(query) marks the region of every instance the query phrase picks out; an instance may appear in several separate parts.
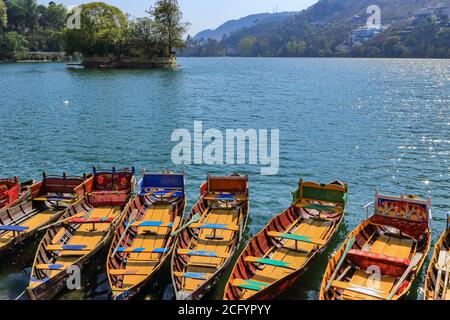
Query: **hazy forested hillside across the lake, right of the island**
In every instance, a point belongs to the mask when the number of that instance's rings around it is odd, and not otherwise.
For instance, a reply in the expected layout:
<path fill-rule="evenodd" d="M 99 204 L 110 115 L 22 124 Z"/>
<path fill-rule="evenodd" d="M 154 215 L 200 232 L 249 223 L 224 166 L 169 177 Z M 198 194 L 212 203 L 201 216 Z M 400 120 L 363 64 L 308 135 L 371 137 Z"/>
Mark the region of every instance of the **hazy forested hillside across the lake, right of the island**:
<path fill-rule="evenodd" d="M 367 8 L 373 4 L 380 7 L 386 27 L 370 41 L 352 43 L 351 33 L 366 25 Z M 448 15 L 414 17 L 438 4 L 450 5 L 450 0 L 320 0 L 293 16 L 242 28 L 221 41 L 189 39 L 185 55 L 450 58 Z"/>

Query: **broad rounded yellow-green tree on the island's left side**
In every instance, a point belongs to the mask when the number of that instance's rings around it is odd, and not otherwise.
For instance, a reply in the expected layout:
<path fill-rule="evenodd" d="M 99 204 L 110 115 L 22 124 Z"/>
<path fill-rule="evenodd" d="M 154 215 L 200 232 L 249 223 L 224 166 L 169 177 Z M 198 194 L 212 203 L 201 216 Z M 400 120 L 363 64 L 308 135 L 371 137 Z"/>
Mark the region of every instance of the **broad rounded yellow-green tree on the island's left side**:
<path fill-rule="evenodd" d="M 80 7 L 81 28 L 65 32 L 67 52 L 107 55 L 120 51 L 127 26 L 124 13 L 103 2 L 92 2 Z"/>

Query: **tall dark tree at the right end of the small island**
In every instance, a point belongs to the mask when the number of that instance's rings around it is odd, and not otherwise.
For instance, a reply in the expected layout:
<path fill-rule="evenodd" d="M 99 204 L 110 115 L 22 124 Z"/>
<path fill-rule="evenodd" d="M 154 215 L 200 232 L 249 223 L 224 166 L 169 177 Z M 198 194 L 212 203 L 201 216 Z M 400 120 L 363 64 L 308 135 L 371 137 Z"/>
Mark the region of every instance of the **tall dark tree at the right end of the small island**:
<path fill-rule="evenodd" d="M 148 13 L 155 21 L 156 36 L 164 55 L 170 56 L 173 49 L 184 48 L 182 37 L 188 24 L 181 21 L 183 15 L 177 0 L 157 0 Z"/>

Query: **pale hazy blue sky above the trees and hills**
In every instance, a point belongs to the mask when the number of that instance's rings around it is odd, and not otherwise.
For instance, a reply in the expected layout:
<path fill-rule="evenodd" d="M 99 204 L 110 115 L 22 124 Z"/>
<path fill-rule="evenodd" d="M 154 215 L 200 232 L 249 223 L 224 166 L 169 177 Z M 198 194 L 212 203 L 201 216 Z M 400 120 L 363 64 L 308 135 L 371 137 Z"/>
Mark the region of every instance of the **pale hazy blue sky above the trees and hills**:
<path fill-rule="evenodd" d="M 54 0 L 65 5 L 78 5 L 86 0 Z M 99 0 L 100 1 L 100 0 Z M 103 0 L 106 3 L 119 7 L 133 16 L 145 15 L 154 0 Z M 204 29 L 214 29 L 223 22 L 237 19 L 253 13 L 272 12 L 278 7 L 278 11 L 300 11 L 317 0 L 178 0 L 183 11 L 185 21 L 191 23 L 188 31 L 194 35 Z M 38 0 L 47 4 L 50 0 Z"/>

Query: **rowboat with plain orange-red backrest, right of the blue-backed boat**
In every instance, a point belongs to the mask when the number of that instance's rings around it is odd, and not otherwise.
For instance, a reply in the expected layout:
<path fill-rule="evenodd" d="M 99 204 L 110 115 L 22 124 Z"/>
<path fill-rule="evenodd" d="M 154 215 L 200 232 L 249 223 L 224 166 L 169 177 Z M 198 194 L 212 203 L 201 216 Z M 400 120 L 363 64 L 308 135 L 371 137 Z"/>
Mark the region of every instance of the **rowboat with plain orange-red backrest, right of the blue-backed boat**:
<path fill-rule="evenodd" d="M 198 300 L 231 262 L 247 225 L 248 177 L 208 176 L 172 255 L 178 300 Z"/>

